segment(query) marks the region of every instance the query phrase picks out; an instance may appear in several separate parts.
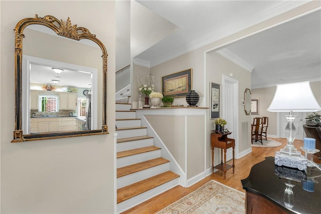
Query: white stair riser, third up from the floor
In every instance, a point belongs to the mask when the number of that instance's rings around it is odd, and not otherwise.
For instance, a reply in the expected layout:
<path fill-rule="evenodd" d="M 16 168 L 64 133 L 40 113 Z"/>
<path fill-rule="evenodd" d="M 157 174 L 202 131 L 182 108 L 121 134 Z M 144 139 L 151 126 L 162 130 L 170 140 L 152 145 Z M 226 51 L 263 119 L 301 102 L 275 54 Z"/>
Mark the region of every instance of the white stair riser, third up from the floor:
<path fill-rule="evenodd" d="M 161 157 L 161 149 L 117 158 L 117 168 Z"/>

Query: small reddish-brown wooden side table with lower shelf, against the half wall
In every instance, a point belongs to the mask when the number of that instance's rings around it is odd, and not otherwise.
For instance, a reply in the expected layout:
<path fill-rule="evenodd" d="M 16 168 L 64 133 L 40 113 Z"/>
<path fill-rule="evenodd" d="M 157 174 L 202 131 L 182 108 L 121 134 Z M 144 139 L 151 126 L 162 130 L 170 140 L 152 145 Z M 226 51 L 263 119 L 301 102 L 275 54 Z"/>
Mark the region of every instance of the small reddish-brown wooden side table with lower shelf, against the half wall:
<path fill-rule="evenodd" d="M 212 130 L 211 134 L 211 146 L 212 146 L 212 174 L 214 174 L 214 168 L 223 171 L 224 179 L 226 179 L 226 170 L 233 167 L 234 173 L 234 148 L 235 148 L 235 140 L 228 138 L 227 135 L 231 134 L 232 132 L 220 133 L 216 130 Z M 221 163 L 214 167 L 214 148 L 221 149 Z M 226 150 L 228 148 L 233 148 L 233 165 L 226 164 Z M 224 162 L 223 162 L 223 149 L 224 149 Z"/>

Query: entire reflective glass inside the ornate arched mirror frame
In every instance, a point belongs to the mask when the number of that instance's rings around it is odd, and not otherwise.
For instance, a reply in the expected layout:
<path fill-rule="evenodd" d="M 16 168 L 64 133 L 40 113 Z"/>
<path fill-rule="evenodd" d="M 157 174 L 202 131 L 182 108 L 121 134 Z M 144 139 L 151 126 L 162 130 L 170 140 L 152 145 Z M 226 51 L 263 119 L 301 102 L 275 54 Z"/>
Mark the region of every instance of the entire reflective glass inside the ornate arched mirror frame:
<path fill-rule="evenodd" d="M 24 134 L 95 130 L 101 49 L 90 40 L 58 37 L 30 25 L 24 31 L 22 118 Z"/>

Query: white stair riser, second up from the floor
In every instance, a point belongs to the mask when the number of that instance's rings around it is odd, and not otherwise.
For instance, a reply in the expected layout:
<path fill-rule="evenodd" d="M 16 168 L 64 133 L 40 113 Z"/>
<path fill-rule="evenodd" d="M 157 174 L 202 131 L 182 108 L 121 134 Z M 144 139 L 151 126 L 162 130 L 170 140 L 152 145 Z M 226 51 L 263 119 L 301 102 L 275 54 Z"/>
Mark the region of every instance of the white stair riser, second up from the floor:
<path fill-rule="evenodd" d="M 128 174 L 126 176 L 119 177 L 117 178 L 117 189 L 146 179 L 148 177 L 152 177 L 154 175 L 166 172 L 168 170 L 170 170 L 169 162 L 148 169 L 144 169 L 142 171 L 138 171 L 132 174 Z"/>

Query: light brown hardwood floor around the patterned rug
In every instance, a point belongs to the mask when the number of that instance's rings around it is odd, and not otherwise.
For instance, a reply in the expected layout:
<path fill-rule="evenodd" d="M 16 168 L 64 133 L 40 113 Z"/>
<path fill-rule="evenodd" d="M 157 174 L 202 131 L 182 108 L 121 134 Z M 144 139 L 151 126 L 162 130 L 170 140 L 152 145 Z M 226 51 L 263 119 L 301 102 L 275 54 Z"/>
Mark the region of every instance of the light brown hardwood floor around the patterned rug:
<path fill-rule="evenodd" d="M 217 171 L 214 173 L 214 175 L 210 175 L 203 180 L 199 181 L 198 183 L 185 188 L 182 186 L 176 186 L 160 195 L 157 195 L 145 202 L 142 202 L 141 204 L 138 204 L 137 206 L 134 206 L 122 213 L 155 213 L 157 211 L 162 210 L 163 208 L 167 207 L 168 205 L 172 204 L 173 202 L 179 200 L 180 198 L 184 197 L 185 195 L 191 193 L 192 191 L 196 190 L 200 186 L 207 183 L 209 180 L 216 180 L 220 183 L 223 183 L 227 186 L 230 186 L 232 188 L 238 189 L 240 191 L 245 192 L 243 190 L 241 180 L 246 178 L 252 166 L 258 162 L 261 162 L 265 159 L 265 157 L 273 156 L 275 151 L 279 151 L 281 148 L 283 148 L 286 144 L 285 138 L 270 138 L 277 140 L 282 143 L 281 146 L 278 147 L 252 147 L 252 152 L 245 155 L 242 158 L 235 160 L 235 172 L 232 173 L 232 169 L 228 170 L 226 172 L 226 180 L 223 179 L 223 175 L 221 171 Z M 302 140 L 294 140 L 293 145 L 299 149 L 299 147 L 303 146 Z M 302 154 L 304 154 L 301 151 Z M 320 160 L 314 159 L 315 162 L 321 163 Z M 230 163 L 231 161 L 227 162 Z M 231 163 L 230 163 L 231 164 Z"/>

